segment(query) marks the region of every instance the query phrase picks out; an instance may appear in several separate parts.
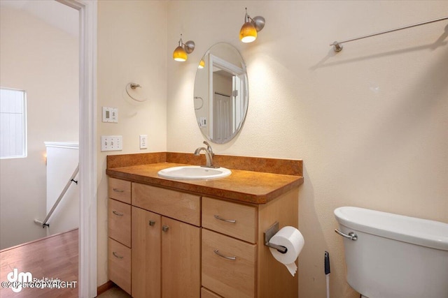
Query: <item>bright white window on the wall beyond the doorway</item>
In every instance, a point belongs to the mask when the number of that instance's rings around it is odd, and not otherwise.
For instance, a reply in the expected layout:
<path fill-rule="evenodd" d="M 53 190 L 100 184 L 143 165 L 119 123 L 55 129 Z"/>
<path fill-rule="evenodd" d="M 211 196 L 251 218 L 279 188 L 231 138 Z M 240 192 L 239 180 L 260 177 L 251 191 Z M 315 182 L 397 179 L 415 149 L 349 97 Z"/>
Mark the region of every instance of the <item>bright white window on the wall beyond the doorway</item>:
<path fill-rule="evenodd" d="M 0 158 L 27 157 L 27 94 L 0 88 Z"/>

